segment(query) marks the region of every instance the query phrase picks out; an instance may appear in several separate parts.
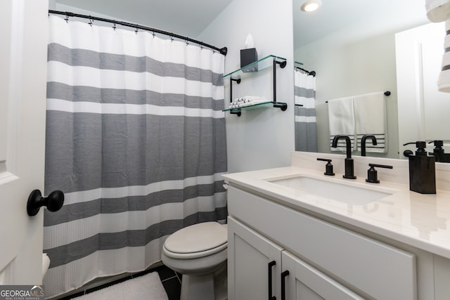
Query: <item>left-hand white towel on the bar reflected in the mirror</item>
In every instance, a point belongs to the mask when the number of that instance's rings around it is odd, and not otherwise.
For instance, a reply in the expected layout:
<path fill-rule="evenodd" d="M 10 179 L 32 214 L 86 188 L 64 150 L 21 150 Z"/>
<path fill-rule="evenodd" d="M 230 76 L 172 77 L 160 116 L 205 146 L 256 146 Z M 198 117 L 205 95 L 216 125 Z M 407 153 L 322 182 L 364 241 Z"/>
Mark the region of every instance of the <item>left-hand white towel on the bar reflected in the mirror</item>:
<path fill-rule="evenodd" d="M 344 134 L 349 136 L 352 141 L 352 149 L 354 149 L 354 108 L 352 97 L 338 98 L 328 101 L 328 121 L 330 127 L 330 150 L 345 151 L 345 140 L 338 141 L 338 148 L 331 147 L 334 136 Z"/>

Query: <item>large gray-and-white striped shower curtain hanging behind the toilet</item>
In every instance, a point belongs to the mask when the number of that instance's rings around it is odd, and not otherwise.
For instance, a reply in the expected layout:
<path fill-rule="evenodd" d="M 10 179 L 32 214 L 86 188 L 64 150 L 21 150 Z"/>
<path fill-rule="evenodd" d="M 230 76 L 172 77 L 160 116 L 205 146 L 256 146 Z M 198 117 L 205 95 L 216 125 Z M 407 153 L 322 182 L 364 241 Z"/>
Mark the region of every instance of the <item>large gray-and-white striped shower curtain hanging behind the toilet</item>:
<path fill-rule="evenodd" d="M 46 296 L 160 260 L 174 231 L 226 221 L 224 56 L 50 16 Z"/>

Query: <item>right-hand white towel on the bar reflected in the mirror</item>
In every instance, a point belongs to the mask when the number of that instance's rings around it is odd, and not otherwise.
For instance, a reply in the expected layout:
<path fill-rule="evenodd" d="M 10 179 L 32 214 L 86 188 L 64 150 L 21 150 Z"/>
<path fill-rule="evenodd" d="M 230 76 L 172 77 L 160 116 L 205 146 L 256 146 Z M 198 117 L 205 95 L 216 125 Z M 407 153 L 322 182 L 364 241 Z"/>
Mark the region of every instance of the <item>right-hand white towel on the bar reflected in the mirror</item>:
<path fill-rule="evenodd" d="M 387 152 L 387 117 L 384 92 L 354 96 L 354 115 L 358 150 L 361 150 L 361 138 L 371 134 L 377 139 L 377 145 L 371 140 L 366 143 L 366 152 Z"/>

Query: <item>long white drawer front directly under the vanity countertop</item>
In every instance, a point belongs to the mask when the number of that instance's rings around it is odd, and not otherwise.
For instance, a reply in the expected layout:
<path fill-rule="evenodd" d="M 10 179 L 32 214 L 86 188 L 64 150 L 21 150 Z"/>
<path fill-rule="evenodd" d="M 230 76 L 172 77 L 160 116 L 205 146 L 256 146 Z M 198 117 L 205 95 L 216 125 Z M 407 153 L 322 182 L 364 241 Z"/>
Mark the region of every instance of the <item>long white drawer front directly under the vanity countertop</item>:
<path fill-rule="evenodd" d="M 416 299 L 415 256 L 233 186 L 229 214 L 375 299 Z"/>

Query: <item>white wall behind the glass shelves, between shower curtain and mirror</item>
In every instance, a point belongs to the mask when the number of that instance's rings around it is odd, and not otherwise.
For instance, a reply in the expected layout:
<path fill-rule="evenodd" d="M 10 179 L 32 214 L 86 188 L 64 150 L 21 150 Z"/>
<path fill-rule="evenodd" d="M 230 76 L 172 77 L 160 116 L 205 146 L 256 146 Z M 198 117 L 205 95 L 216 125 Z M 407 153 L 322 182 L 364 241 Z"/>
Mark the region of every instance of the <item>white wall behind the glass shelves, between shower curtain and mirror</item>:
<path fill-rule="evenodd" d="M 278 108 L 226 113 L 229 172 L 284 167 L 290 165 L 294 150 L 294 77 L 292 0 L 234 0 L 200 34 L 198 39 L 228 47 L 225 73 L 240 67 L 240 49 L 250 33 L 258 58 L 270 54 L 287 58 L 284 69 L 277 67 L 277 100 L 288 103 L 288 110 Z M 233 98 L 266 96 L 272 100 L 272 71 L 251 77 L 242 76 L 233 83 Z M 229 103 L 229 79 L 225 79 L 226 105 Z"/>

